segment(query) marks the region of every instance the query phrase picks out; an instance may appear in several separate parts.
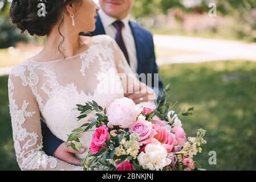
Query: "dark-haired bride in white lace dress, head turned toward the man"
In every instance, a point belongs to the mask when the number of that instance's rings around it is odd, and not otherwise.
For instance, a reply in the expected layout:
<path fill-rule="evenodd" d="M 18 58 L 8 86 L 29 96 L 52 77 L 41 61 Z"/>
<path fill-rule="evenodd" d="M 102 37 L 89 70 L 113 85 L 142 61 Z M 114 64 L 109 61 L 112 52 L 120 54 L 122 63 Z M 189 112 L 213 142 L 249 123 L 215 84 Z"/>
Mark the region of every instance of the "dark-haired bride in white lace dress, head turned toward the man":
<path fill-rule="evenodd" d="M 38 15 L 37 0 L 13 0 L 10 9 L 12 22 L 23 33 L 47 35 L 43 50 L 13 68 L 9 76 L 17 161 L 22 170 L 80 170 L 44 154 L 40 118 L 65 141 L 88 119 L 76 121 L 79 113 L 72 111 L 76 104 L 95 100 L 107 107 L 116 98 L 131 96 L 127 93 L 131 87 L 138 97 L 149 98 L 153 92 L 131 76 L 132 70 L 113 39 L 79 36 L 79 32 L 95 29 L 99 7 L 92 0 L 42 2 L 46 16 Z M 143 90 L 146 92 L 141 93 Z M 91 137 L 90 132 L 81 137 L 87 149 Z"/>

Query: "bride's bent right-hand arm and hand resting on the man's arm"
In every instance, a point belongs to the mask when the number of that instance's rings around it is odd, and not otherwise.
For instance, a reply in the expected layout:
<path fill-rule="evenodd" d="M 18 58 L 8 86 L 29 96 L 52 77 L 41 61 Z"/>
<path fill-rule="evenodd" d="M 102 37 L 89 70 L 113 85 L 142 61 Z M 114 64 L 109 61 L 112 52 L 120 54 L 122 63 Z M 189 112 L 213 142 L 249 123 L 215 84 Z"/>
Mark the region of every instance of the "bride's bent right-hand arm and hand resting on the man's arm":
<path fill-rule="evenodd" d="M 112 40 L 111 44 L 116 68 L 123 85 L 124 96 L 131 98 L 136 104 L 145 101 L 155 101 L 156 94 L 154 90 L 147 86 L 144 82 L 139 81 L 138 75 L 132 71 L 132 68 L 127 63 L 123 52 L 115 40 Z M 146 77 L 147 75 L 145 75 L 144 78 Z M 141 78 L 143 78 L 143 76 L 141 76 Z"/>

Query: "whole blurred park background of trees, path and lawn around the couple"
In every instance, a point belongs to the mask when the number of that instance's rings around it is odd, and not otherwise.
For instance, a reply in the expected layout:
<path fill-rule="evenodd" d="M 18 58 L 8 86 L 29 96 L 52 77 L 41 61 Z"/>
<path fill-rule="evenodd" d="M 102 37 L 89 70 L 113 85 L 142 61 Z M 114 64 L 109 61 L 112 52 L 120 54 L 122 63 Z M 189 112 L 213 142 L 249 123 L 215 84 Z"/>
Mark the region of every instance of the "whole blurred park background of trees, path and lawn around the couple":
<path fill-rule="evenodd" d="M 7 78 L 45 38 L 21 36 L 9 8 L 10 1 L 0 0 L 0 170 L 19 170 Z M 195 107 L 181 117 L 186 134 L 207 130 L 196 160 L 208 170 L 255 170 L 256 1 L 135 0 L 131 18 L 154 34 L 160 76 L 171 84 L 172 103 L 178 101 L 174 109 Z M 208 163 L 209 151 L 217 152 L 216 165 Z"/>

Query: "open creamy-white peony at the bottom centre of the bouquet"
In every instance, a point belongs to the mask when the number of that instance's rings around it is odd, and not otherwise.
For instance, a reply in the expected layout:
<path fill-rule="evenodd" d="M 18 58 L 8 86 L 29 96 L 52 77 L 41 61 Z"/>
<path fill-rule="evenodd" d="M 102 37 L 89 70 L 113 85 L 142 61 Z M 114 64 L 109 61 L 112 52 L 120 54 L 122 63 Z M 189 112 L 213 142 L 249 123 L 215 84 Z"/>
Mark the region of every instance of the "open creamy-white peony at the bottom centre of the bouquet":
<path fill-rule="evenodd" d="M 137 159 L 144 169 L 159 171 L 172 162 L 166 157 L 167 151 L 164 147 L 150 143 L 145 147 L 145 152 L 141 152 L 137 156 Z"/>

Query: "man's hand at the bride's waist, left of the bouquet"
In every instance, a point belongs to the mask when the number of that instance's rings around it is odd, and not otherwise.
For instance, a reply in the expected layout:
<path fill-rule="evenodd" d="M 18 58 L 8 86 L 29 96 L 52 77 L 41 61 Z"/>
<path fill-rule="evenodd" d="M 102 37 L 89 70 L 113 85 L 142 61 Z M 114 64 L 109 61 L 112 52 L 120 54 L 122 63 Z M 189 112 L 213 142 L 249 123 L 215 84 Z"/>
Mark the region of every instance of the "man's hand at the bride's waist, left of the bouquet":
<path fill-rule="evenodd" d="M 64 162 L 80 166 L 81 160 L 75 158 L 75 154 L 83 154 L 84 151 L 86 151 L 85 148 L 80 148 L 80 151 L 75 151 L 71 147 L 66 147 L 65 143 L 62 143 L 56 148 L 52 155 Z"/>

